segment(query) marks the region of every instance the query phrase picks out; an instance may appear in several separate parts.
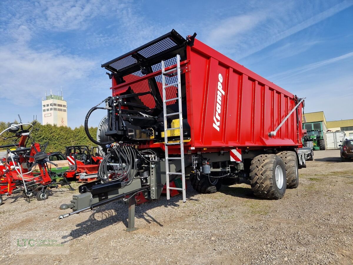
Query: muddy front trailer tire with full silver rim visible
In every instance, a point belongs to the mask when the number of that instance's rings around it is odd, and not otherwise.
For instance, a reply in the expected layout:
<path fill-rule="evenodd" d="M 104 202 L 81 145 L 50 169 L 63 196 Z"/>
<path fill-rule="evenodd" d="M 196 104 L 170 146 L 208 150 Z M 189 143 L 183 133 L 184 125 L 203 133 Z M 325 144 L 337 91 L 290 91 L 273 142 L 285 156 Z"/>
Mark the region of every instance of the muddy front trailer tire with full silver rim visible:
<path fill-rule="evenodd" d="M 286 167 L 283 160 L 274 154 L 255 157 L 250 165 L 250 185 L 257 197 L 281 199 L 287 187 Z"/>

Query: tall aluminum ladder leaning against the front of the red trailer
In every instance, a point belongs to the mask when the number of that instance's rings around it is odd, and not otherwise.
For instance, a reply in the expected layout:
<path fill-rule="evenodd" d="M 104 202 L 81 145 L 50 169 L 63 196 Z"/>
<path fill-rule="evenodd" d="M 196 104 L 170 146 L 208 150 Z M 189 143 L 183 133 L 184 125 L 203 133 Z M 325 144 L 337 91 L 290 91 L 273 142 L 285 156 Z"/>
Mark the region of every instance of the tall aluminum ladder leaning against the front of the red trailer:
<path fill-rule="evenodd" d="M 166 84 L 166 78 L 178 76 L 178 81 L 172 84 Z M 163 118 L 164 118 L 164 148 L 166 153 L 166 185 L 167 185 L 167 200 L 170 199 L 169 190 L 181 190 L 183 193 L 183 202 L 186 202 L 186 189 L 185 189 L 185 165 L 184 165 L 184 139 L 183 139 L 183 113 L 181 110 L 181 81 L 180 81 L 180 55 L 177 54 L 177 67 L 165 71 L 164 61 L 162 60 L 162 90 L 163 90 Z M 173 99 L 166 99 L 166 89 L 170 87 L 175 87 L 178 85 L 178 97 Z M 167 102 L 176 100 L 178 101 L 178 112 L 167 113 Z M 167 117 L 178 116 L 179 117 L 179 127 L 168 128 Z M 168 142 L 168 131 L 180 130 L 180 141 L 179 142 Z M 169 145 L 180 145 L 180 157 L 169 157 L 168 146 Z M 181 162 L 181 172 L 170 172 L 169 162 L 170 160 L 180 160 Z M 170 175 L 181 175 L 182 188 L 169 187 L 169 176 Z"/>

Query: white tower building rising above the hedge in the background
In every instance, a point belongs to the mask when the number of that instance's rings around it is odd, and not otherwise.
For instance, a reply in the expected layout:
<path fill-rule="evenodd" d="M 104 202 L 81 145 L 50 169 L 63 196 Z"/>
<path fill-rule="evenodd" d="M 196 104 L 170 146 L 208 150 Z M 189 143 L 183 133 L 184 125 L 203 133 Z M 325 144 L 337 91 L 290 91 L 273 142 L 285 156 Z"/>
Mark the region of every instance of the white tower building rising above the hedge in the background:
<path fill-rule="evenodd" d="M 43 124 L 56 124 L 58 126 L 67 126 L 67 104 L 61 96 L 46 95 L 42 100 L 42 121 Z"/>

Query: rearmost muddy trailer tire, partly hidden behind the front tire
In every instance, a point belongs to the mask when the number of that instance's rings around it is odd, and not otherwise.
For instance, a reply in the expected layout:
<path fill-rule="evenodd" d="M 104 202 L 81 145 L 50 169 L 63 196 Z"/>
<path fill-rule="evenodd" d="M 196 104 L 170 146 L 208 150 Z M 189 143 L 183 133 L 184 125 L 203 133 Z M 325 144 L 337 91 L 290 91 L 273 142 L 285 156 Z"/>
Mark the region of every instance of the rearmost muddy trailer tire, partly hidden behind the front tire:
<path fill-rule="evenodd" d="M 283 160 L 286 167 L 287 189 L 296 189 L 299 185 L 299 171 L 297 154 L 291 151 L 283 151 L 277 155 Z"/>

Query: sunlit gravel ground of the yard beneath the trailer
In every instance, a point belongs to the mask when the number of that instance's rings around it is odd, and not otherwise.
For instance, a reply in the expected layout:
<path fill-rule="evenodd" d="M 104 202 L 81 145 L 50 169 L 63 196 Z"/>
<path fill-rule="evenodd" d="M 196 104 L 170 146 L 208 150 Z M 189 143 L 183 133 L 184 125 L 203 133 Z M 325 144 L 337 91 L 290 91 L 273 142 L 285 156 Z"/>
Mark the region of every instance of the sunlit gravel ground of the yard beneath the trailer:
<path fill-rule="evenodd" d="M 7 199 L 0 263 L 353 264 L 353 163 L 341 163 L 338 150 L 314 153 L 281 200 L 258 199 L 246 184 L 197 194 L 187 182 L 186 203 L 176 196 L 137 206 L 131 233 L 127 206 L 115 203 L 58 220 L 77 191 Z M 43 238 L 61 245 L 21 241 Z"/>

